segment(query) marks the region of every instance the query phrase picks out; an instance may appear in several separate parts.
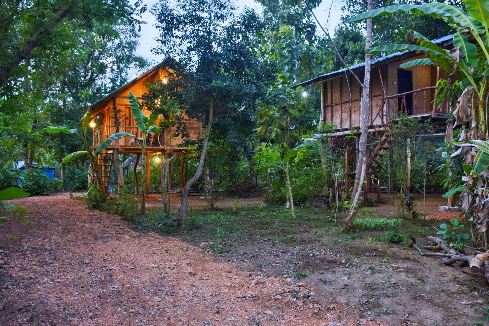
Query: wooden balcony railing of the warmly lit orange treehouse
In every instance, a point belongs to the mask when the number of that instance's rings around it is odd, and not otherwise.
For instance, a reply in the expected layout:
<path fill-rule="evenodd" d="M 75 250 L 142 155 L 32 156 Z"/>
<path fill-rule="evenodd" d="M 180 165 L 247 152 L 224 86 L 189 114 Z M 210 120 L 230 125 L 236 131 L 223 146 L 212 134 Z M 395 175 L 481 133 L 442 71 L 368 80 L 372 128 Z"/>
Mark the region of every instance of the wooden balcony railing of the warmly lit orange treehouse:
<path fill-rule="evenodd" d="M 108 139 L 115 133 L 129 133 L 135 135 L 139 140 L 143 139 L 141 131 L 135 126 L 112 126 L 101 125 L 93 130 L 93 146 L 100 146 L 104 140 Z M 136 140 L 131 137 L 124 137 L 114 140 L 111 145 L 115 146 L 138 146 Z M 148 146 L 162 146 L 160 137 L 153 133 L 148 135 L 146 140 Z"/>

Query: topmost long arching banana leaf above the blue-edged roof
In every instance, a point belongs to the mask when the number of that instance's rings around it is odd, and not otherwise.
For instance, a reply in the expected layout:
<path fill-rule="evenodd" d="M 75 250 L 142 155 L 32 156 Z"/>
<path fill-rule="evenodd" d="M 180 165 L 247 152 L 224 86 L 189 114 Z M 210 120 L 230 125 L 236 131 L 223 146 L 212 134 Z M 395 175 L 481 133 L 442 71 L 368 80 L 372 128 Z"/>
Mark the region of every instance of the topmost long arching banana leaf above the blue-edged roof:
<path fill-rule="evenodd" d="M 466 24 L 466 22 L 459 19 L 457 16 L 452 15 L 451 13 L 445 10 L 433 6 L 417 5 L 417 4 L 399 4 L 399 5 L 377 8 L 374 10 L 367 11 L 363 14 L 359 14 L 354 17 L 351 17 L 346 20 L 346 23 L 361 22 L 377 16 L 391 16 L 392 14 L 398 11 L 410 12 L 412 14 L 430 15 L 433 18 L 443 18 L 447 20 L 449 23 L 456 23 L 461 26 Z"/>

